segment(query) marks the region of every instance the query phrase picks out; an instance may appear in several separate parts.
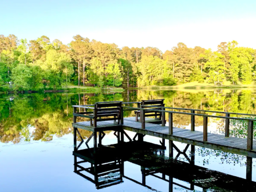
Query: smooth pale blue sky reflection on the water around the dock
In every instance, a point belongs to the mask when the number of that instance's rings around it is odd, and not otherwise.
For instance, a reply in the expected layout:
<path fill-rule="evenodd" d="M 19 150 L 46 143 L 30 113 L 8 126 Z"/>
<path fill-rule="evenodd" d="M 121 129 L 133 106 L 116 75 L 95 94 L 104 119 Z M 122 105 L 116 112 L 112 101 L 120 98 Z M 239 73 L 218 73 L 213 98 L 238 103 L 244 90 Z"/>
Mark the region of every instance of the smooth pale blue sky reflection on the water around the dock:
<path fill-rule="evenodd" d="M 32 129 L 32 128 L 31 128 Z M 200 127 L 198 127 L 200 129 Z M 133 137 L 135 133 L 129 133 Z M 159 138 L 146 136 L 145 141 L 159 144 Z M 125 138 L 125 141 L 127 139 Z M 116 143 L 117 139 L 113 132 L 107 134 L 103 139 L 103 144 Z M 176 146 L 182 151 L 186 144 L 174 142 Z M 168 140 L 165 142 L 166 152 L 168 156 Z M 81 148 L 85 148 L 82 144 Z M 89 142 L 89 146 L 93 146 L 93 141 Z M 52 141 L 21 141 L 17 144 L 0 143 L 0 187 L 1 191 L 98 191 L 95 185 L 79 175 L 73 173 L 74 171 L 74 157 L 73 151 L 73 135 L 68 134 L 62 137 L 53 136 Z M 79 148 L 80 149 L 80 148 Z M 206 168 L 218 170 L 226 174 L 245 178 L 246 166 L 242 160 L 243 165 L 233 165 L 233 163 L 222 164 L 221 156 L 215 155 L 199 156 L 201 147 L 196 146 L 195 164 Z M 207 149 L 206 149 L 207 150 Z M 189 156 L 190 147 L 187 150 Z M 174 157 L 177 152 L 174 150 Z M 180 155 L 180 160 L 183 159 Z M 208 161 L 207 161 L 208 160 Z M 203 163 L 205 162 L 205 165 Z M 253 164 L 255 161 L 253 161 Z M 83 164 L 87 167 L 87 163 Z M 88 167 L 90 165 L 88 164 Z M 124 163 L 124 175 L 139 182 L 142 181 L 141 167 L 131 162 Z M 256 180 L 253 167 L 252 180 Z M 185 174 L 185 173 L 184 173 Z M 86 174 L 90 176 L 90 174 Z M 160 176 L 160 175 L 159 175 Z M 91 177 L 91 176 L 90 176 Z M 166 179 L 168 177 L 166 176 Z M 150 189 L 138 185 L 130 180 L 123 178 L 123 183 L 111 187 L 100 189 L 100 191 L 151 191 Z M 189 186 L 188 183 L 174 179 L 174 182 Z M 168 182 L 157 179 L 153 176 L 146 177 L 146 184 L 158 191 L 168 191 Z M 176 189 L 175 189 L 176 187 Z M 202 191 L 200 187 L 195 188 Z M 174 185 L 174 191 L 186 191 L 179 186 Z"/>

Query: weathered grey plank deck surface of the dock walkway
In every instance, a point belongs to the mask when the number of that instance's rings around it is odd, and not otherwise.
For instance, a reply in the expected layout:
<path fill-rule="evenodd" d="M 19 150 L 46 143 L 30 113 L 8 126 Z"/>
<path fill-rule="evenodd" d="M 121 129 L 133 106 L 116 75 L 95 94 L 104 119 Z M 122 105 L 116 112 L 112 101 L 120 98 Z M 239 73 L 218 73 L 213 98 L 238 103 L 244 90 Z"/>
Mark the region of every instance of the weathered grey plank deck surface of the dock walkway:
<path fill-rule="evenodd" d="M 119 129 L 122 129 L 138 134 L 150 135 L 162 139 L 179 141 L 182 143 L 211 148 L 213 150 L 220 150 L 256 158 L 256 151 L 247 150 L 247 139 L 245 138 L 225 137 L 224 135 L 207 133 L 208 140 L 203 141 L 204 135 L 201 131 L 191 131 L 173 127 L 173 134 L 170 135 L 168 126 L 155 124 L 157 120 L 153 118 L 145 118 L 145 121 L 145 129 L 141 128 L 141 122 L 135 121 L 135 117 L 123 118 L 122 125 L 115 125 L 113 124 L 113 121 L 110 120 L 99 122 L 97 127 L 90 126 L 89 121 L 73 123 L 73 126 L 78 129 L 84 129 L 92 132 L 103 132 L 109 130 L 118 131 Z M 256 148 L 255 141 L 253 141 L 253 148 Z"/>

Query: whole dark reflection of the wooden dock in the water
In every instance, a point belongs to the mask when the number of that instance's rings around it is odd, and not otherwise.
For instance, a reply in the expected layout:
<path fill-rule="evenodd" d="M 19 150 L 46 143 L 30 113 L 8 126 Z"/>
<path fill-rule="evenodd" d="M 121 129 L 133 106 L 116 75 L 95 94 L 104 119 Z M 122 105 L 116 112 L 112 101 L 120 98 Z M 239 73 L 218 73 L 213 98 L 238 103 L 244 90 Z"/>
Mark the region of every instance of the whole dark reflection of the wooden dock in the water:
<path fill-rule="evenodd" d="M 90 151 L 93 151 L 93 148 L 77 150 L 75 147 L 73 152 L 75 158 L 74 172 L 95 183 L 97 189 L 119 184 L 123 182 L 122 178 L 153 189 L 150 186 L 151 184 L 146 182 L 147 176 L 153 176 L 156 179 L 168 182 L 169 191 L 173 191 L 174 185 L 187 190 L 194 190 L 195 186 L 202 187 L 205 190 L 210 187 L 218 187 L 228 191 L 254 191 L 256 189 L 256 183 L 252 182 L 248 176 L 243 179 L 195 165 L 195 145 L 187 145 L 185 150 L 182 151 L 173 141 L 169 141 L 169 158 L 163 155 L 164 150 L 162 148 L 162 145 L 145 141 L 132 141 L 110 146 L 102 145 L 98 148 L 95 156 L 92 156 Z M 186 155 L 188 148 L 190 149 L 189 157 Z M 173 154 L 174 150 L 178 152 L 176 157 Z M 157 152 L 160 152 L 160 155 Z M 177 160 L 181 155 L 188 162 Z M 78 157 L 82 161 L 77 161 Z M 125 161 L 141 167 L 141 182 L 125 175 Z M 82 166 L 82 163 L 85 162 L 89 162 L 91 165 L 89 167 Z M 82 174 L 81 172 L 86 173 Z M 93 179 L 87 175 L 93 176 Z M 187 184 L 184 185 L 174 179 L 184 181 Z"/>

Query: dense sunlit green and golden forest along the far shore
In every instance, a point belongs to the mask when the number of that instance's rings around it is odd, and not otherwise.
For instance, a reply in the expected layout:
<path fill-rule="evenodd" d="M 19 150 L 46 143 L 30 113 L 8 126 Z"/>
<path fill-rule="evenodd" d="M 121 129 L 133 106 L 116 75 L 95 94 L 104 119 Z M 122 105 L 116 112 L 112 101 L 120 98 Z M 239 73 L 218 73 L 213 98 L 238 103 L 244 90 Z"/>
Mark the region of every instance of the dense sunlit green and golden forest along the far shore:
<path fill-rule="evenodd" d="M 115 44 L 73 37 L 68 45 L 47 36 L 36 40 L 0 35 L 0 87 L 13 91 L 78 86 L 173 86 L 191 81 L 250 84 L 256 50 L 221 42 L 218 51 L 180 42 L 162 53 L 153 47 L 119 49 Z M 1 90 L 0 90 L 1 91 Z"/>

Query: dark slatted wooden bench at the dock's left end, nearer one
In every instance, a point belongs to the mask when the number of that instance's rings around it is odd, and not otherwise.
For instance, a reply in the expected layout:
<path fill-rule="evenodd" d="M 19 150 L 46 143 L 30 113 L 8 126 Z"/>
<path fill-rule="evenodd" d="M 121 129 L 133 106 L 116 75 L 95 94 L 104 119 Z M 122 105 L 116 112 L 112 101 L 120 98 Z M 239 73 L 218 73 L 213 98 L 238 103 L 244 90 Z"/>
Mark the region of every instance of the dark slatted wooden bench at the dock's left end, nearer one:
<path fill-rule="evenodd" d="M 114 124 L 122 122 L 122 101 L 96 102 L 94 105 L 74 105 L 73 107 L 75 117 L 90 118 L 90 125 L 94 127 L 97 127 L 98 121 L 114 120 Z M 92 109 L 93 112 L 77 113 L 76 108 Z"/>

